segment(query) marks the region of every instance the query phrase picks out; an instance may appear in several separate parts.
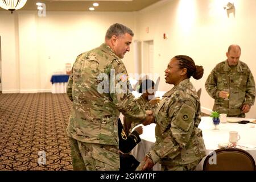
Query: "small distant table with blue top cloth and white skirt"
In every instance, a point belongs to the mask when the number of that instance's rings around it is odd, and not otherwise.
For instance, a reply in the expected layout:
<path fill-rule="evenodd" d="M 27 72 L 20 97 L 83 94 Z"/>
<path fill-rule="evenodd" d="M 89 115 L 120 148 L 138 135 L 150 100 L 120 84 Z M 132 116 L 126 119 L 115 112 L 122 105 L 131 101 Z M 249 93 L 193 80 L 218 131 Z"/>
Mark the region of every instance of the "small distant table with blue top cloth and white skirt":
<path fill-rule="evenodd" d="M 69 75 L 52 75 L 52 93 L 66 93 Z"/>

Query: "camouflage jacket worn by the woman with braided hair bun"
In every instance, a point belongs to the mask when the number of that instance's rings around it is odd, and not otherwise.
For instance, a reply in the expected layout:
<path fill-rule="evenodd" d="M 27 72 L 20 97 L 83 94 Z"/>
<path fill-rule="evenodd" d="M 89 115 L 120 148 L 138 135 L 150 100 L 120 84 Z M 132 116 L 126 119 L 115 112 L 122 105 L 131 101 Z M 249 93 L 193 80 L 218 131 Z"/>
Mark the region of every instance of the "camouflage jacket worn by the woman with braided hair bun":
<path fill-rule="evenodd" d="M 147 154 L 154 163 L 179 166 L 202 159 L 205 146 L 200 101 L 189 79 L 164 94 L 156 112 L 156 143 Z"/>

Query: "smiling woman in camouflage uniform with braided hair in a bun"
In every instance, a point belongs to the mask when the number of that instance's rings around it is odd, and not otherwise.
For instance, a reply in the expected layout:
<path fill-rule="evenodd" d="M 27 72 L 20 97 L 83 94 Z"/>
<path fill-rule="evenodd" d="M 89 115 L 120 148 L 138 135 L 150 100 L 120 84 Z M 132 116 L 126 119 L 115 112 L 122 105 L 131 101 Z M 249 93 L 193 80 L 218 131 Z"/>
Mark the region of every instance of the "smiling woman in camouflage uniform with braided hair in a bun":
<path fill-rule="evenodd" d="M 168 84 L 174 88 L 164 94 L 156 112 L 156 143 L 144 158 L 142 169 L 151 169 L 155 163 L 162 170 L 193 170 L 206 155 L 202 131 L 200 101 L 189 81 L 199 80 L 202 66 L 188 56 L 175 56 L 164 71 Z"/>

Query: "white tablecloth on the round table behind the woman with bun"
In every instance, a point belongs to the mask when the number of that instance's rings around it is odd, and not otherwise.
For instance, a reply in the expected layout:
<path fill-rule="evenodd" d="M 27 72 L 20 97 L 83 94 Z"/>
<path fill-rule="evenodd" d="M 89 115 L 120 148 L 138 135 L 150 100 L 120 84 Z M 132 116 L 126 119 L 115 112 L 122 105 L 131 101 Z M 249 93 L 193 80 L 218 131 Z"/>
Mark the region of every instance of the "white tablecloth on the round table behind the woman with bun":
<path fill-rule="evenodd" d="M 232 121 L 234 119 L 238 119 L 240 121 L 254 120 L 249 118 L 228 118 L 228 120 L 231 119 Z M 132 151 L 134 157 L 140 162 L 155 143 L 155 126 L 155 124 L 143 126 L 143 134 L 140 135 L 142 141 Z M 205 147 L 207 149 L 207 154 L 210 154 L 210 152 L 212 152 L 213 150 L 218 149 L 219 143 L 229 142 L 229 131 L 238 131 L 241 139 L 238 141 L 237 144 L 240 144 L 241 146 L 256 147 L 256 124 L 254 123 L 247 123 L 245 125 L 229 122 L 220 123 L 220 125 L 218 126 L 218 130 L 213 130 L 214 126 L 212 118 L 202 117 L 199 128 L 203 131 L 203 138 Z M 256 148 L 243 147 L 242 149 L 249 152 L 256 161 Z M 199 163 L 196 170 L 203 170 L 204 159 Z M 160 170 L 160 164 L 156 164 L 153 169 Z"/>

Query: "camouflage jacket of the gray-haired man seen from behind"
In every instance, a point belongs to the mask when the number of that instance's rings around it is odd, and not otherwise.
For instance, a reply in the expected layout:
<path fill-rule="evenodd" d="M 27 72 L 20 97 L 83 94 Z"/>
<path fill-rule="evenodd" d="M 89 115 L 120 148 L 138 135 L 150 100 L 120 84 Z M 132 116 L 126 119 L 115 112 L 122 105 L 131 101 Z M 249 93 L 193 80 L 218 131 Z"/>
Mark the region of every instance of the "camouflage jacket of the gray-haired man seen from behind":
<path fill-rule="evenodd" d="M 81 142 L 118 146 L 120 112 L 134 121 L 146 117 L 128 92 L 127 79 L 125 65 L 106 44 L 79 55 L 67 85 L 72 101 L 68 136 Z"/>

